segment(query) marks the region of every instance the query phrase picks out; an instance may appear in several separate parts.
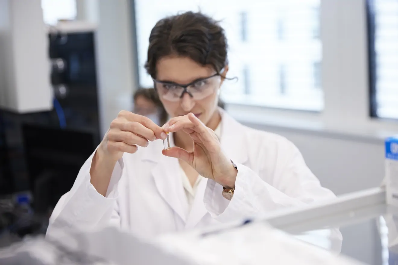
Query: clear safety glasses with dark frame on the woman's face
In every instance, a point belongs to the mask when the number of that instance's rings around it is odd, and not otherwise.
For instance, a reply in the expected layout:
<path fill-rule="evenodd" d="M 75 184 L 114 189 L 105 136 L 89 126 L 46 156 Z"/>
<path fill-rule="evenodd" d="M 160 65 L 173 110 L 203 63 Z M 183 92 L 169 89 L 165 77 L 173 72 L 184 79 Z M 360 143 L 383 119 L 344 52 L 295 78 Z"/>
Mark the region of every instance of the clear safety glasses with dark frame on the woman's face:
<path fill-rule="evenodd" d="M 181 85 L 173 82 L 161 82 L 153 79 L 159 97 L 167 101 L 179 101 L 185 93 L 195 100 L 210 96 L 220 86 L 221 77 L 215 74 L 197 79 L 189 84 Z"/>

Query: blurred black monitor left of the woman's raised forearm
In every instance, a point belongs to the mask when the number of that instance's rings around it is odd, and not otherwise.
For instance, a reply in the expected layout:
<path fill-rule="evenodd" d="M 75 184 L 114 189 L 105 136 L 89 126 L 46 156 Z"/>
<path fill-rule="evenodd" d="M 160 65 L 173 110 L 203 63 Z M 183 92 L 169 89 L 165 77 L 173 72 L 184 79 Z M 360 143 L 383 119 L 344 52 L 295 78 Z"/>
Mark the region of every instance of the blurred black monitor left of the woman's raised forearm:
<path fill-rule="evenodd" d="M 96 148 L 97 135 L 37 124 L 24 124 L 22 134 L 34 208 L 45 213 L 72 188 Z"/>

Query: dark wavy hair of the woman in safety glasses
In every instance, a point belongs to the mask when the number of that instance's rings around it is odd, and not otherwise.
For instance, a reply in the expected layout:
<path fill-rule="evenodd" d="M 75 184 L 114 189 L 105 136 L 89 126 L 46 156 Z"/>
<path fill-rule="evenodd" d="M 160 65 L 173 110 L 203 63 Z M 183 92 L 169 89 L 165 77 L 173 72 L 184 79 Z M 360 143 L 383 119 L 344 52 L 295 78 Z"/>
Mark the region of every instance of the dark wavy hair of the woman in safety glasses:
<path fill-rule="evenodd" d="M 226 66 L 227 40 L 224 29 L 200 12 L 185 12 L 161 19 L 149 36 L 145 69 L 156 78 L 156 63 L 164 56 L 187 56 L 195 62 L 211 65 L 218 74 Z"/>

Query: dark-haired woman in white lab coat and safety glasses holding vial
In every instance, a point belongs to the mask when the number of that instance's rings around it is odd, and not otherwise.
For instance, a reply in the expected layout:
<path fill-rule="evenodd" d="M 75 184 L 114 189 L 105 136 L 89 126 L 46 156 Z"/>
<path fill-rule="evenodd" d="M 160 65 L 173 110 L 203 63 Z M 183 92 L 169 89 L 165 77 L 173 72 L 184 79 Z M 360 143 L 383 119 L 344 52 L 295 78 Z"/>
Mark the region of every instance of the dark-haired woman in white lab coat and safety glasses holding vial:
<path fill-rule="evenodd" d="M 213 19 L 187 12 L 158 21 L 146 70 L 171 119 L 160 127 L 120 112 L 59 200 L 47 235 L 115 225 L 152 238 L 334 198 L 293 143 L 217 108 L 227 62 Z"/>

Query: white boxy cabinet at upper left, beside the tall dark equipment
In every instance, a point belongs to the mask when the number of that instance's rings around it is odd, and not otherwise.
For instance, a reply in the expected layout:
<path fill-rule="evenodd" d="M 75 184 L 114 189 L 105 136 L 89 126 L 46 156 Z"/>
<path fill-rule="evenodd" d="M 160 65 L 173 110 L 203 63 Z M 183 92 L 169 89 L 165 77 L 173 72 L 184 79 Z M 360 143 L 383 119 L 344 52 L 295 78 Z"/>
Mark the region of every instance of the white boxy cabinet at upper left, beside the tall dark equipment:
<path fill-rule="evenodd" d="M 52 108 L 48 41 L 40 0 L 0 0 L 0 106 Z"/>

